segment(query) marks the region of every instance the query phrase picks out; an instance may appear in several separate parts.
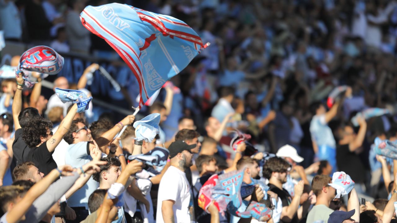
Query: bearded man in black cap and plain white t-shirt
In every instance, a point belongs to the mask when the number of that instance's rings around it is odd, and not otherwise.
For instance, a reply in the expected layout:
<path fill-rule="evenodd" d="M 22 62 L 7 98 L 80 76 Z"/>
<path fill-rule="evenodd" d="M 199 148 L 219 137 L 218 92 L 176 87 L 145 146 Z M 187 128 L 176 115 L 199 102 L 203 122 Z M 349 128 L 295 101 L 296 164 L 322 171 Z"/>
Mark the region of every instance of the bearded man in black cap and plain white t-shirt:
<path fill-rule="evenodd" d="M 168 147 L 171 166 L 158 188 L 157 223 L 190 222 L 191 188 L 185 170 L 192 165 L 193 148 L 196 144 L 188 145 L 182 141 L 175 141 Z"/>

